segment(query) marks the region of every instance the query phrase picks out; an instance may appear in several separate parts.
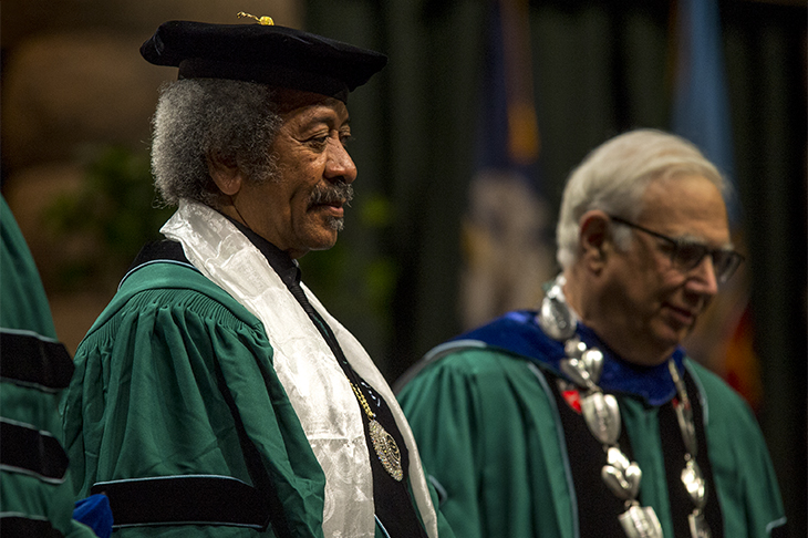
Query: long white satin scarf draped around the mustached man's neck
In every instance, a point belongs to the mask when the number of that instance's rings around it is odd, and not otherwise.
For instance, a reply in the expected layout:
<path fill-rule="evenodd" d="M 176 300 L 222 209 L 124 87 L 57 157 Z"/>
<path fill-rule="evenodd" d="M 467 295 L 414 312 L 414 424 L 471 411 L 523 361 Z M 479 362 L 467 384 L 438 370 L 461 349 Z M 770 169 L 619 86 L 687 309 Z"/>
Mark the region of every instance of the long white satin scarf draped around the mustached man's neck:
<path fill-rule="evenodd" d="M 317 327 L 232 223 L 208 206 L 180 200 L 160 231 L 179 241 L 188 260 L 263 323 L 273 366 L 325 473 L 323 532 L 328 538 L 374 536 L 373 476 L 362 414 L 351 385 Z M 437 518 L 415 441 L 395 395 L 359 341 L 305 288 L 351 366 L 386 401 L 410 453 L 410 480 L 431 538 Z"/>

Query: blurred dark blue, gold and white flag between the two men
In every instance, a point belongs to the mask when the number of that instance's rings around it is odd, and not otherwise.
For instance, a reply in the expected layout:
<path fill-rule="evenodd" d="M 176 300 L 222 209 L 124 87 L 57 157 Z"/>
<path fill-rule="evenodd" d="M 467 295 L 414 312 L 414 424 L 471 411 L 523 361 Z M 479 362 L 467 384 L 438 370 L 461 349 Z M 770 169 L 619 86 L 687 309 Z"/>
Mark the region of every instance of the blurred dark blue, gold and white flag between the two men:
<path fill-rule="evenodd" d="M 465 328 L 535 308 L 555 268 L 549 211 L 537 179 L 527 0 L 493 0 L 486 19 L 477 163 L 463 221 Z"/>

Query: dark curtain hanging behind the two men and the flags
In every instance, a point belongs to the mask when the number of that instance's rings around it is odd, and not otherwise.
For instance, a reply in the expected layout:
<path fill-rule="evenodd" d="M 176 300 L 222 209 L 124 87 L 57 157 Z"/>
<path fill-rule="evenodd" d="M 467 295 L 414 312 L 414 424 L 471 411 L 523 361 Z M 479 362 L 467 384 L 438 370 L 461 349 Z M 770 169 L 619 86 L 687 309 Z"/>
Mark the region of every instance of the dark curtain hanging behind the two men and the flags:
<path fill-rule="evenodd" d="M 736 182 L 752 271 L 758 418 L 790 528 L 806 528 L 806 8 L 723 1 Z M 541 184 L 632 127 L 670 127 L 669 1 L 532 1 Z M 311 286 L 392 382 L 459 330 L 460 217 L 474 172 L 486 0 L 309 0 L 307 29 L 384 51 L 352 94 L 358 200 Z M 795 536 L 797 536 L 795 535 Z"/>

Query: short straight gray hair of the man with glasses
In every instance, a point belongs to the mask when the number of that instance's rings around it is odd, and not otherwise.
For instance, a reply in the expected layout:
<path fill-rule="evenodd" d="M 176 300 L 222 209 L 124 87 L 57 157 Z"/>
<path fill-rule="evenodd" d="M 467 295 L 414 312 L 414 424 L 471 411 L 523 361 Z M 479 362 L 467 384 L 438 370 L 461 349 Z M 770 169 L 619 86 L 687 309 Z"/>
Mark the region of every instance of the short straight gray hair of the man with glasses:
<path fill-rule="evenodd" d="M 698 174 L 723 195 L 731 186 L 713 163 L 688 141 L 656 130 L 636 130 L 607 141 L 572 170 L 561 199 L 556 229 L 556 258 L 563 269 L 578 259 L 580 218 L 600 209 L 635 219 L 642 211 L 642 196 L 654 180 Z M 628 229 L 615 229 L 614 240 L 624 247 Z"/>

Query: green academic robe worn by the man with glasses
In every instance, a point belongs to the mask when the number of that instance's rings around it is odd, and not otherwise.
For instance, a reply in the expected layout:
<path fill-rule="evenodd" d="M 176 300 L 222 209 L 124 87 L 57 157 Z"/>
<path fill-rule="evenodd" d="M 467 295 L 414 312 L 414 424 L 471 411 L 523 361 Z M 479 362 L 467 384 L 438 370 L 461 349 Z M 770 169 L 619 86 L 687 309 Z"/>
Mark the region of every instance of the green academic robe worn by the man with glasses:
<path fill-rule="evenodd" d="M 581 505 L 559 420 L 556 379 L 517 353 L 476 342 L 446 351 L 398 394 L 441 510 L 465 538 L 578 538 Z M 773 536 L 785 524 L 773 466 L 755 417 L 716 375 L 685 360 L 704 411 L 709 464 L 727 538 Z M 642 469 L 640 501 L 673 537 L 659 407 L 618 395 Z M 592 462 L 599 477 L 602 459 Z M 607 494 L 609 495 L 609 494 Z M 602 535 L 605 536 L 605 535 Z M 582 537 L 588 538 L 588 537 Z"/>

